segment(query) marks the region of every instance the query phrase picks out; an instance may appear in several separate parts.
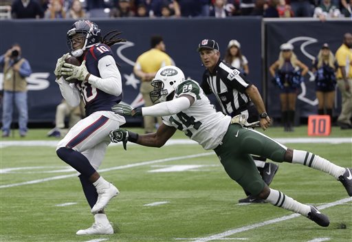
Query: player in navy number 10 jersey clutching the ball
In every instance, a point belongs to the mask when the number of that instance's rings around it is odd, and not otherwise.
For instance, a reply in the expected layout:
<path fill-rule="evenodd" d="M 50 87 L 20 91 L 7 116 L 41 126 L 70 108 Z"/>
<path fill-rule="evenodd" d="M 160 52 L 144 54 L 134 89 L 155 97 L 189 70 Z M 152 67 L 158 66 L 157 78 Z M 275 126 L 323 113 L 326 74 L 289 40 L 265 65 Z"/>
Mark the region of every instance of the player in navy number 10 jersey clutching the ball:
<path fill-rule="evenodd" d="M 56 147 L 58 157 L 78 171 L 83 192 L 94 214 L 95 222 L 91 228 L 78 230 L 78 235 L 113 234 L 104 208 L 119 191 L 97 170 L 110 143 L 109 131 L 126 122 L 121 115 L 111 111 L 111 105 L 122 100 L 121 75 L 109 47 L 125 41 L 115 38 L 118 34 L 120 32 L 114 30 L 101 38 L 96 23 L 76 21 L 67 32 L 69 53 L 58 58 L 54 71 L 63 98 L 76 107 L 82 97 L 87 115 Z M 65 63 L 70 55 L 78 58 L 81 65 Z"/>

